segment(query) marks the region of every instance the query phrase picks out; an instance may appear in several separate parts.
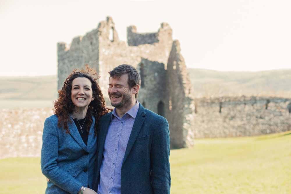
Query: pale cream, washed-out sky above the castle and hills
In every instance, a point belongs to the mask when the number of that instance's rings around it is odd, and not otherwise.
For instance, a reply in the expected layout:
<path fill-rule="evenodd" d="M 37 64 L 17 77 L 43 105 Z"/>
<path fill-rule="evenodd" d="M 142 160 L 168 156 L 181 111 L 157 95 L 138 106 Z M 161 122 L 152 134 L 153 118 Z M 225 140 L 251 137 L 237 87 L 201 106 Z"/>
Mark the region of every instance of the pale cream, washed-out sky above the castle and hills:
<path fill-rule="evenodd" d="M 1 76 L 57 73 L 57 42 L 70 44 L 111 16 L 126 28 L 173 29 L 187 67 L 220 71 L 291 69 L 291 1 L 0 0 Z"/>

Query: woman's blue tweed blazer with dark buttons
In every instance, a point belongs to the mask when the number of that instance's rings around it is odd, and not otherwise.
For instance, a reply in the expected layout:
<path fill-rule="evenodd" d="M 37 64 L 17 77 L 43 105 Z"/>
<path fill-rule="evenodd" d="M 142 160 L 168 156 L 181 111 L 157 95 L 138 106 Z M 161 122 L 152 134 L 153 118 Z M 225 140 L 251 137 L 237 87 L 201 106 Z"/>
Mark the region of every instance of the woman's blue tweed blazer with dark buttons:
<path fill-rule="evenodd" d="M 46 194 L 78 193 L 82 186 L 93 188 L 97 136 L 94 135 L 95 118 L 90 127 L 87 145 L 72 120 L 70 134 L 58 127 L 58 117 L 45 120 L 42 134 L 41 170 L 50 181 Z"/>

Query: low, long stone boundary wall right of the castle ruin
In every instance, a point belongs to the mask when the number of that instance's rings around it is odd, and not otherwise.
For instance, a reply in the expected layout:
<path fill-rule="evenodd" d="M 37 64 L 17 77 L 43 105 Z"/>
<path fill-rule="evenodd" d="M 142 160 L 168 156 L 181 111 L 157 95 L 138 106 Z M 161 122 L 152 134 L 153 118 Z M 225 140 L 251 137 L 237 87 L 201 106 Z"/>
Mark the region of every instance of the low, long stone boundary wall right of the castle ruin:
<path fill-rule="evenodd" d="M 196 99 L 195 138 L 257 136 L 291 130 L 291 99 L 220 97 Z M 267 109 L 266 109 L 267 107 Z"/>

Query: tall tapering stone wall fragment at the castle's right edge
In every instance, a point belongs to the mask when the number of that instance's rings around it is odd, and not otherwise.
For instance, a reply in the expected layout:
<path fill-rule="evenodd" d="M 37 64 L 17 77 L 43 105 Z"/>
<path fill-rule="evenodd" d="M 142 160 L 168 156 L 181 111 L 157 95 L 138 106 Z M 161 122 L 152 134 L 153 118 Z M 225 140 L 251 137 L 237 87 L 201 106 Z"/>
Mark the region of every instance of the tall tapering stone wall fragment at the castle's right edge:
<path fill-rule="evenodd" d="M 180 54 L 178 40 L 173 42 L 168 59 L 168 122 L 175 129 L 170 131 L 171 147 L 181 148 L 193 145 L 194 134 L 191 121 L 194 119 L 194 102 L 191 97 L 192 85 L 187 74 L 184 58 Z M 178 135 L 182 134 L 182 135 Z"/>

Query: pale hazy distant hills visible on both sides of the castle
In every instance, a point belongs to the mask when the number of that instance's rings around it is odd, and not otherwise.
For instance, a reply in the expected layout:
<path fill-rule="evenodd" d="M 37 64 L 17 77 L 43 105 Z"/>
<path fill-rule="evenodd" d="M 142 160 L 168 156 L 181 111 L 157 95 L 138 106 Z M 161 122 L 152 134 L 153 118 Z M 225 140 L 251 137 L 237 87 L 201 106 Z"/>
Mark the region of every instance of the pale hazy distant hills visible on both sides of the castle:
<path fill-rule="evenodd" d="M 189 68 L 194 96 L 268 95 L 291 97 L 291 69 L 260 72 L 220 72 Z M 0 100 L 55 100 L 57 77 L 0 78 Z"/>

